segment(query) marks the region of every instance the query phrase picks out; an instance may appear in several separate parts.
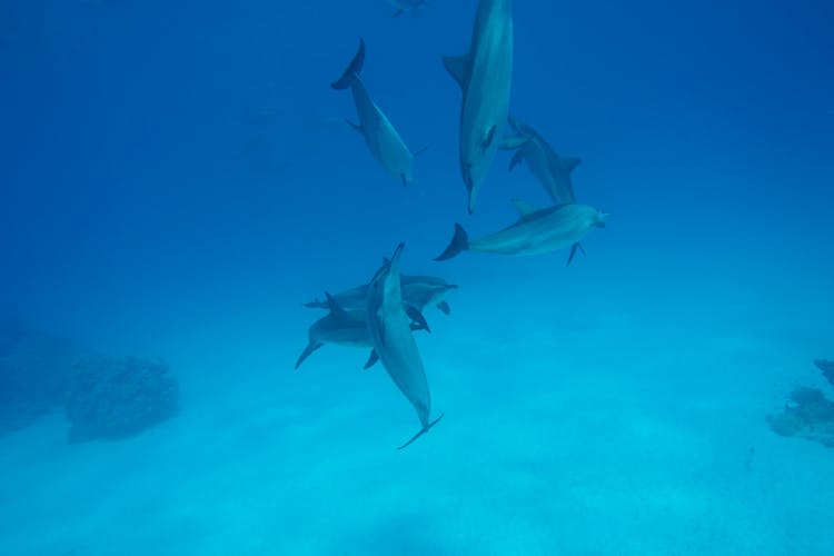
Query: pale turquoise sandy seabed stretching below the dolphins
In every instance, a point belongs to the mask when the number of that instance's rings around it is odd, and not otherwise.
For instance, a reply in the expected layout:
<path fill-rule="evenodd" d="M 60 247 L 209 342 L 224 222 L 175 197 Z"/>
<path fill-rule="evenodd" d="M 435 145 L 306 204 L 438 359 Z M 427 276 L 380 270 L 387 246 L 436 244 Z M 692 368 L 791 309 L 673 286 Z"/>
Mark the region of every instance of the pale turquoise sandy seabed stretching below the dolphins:
<path fill-rule="evenodd" d="M 834 450 L 765 423 L 831 356 L 813 320 L 492 308 L 519 324 L 475 299 L 419 339 L 446 416 L 408 449 L 360 350 L 291 371 L 300 328 L 270 346 L 286 370 L 182 357 L 182 413 L 136 438 L 67 444 L 53 416 L 0 439 L 0 552 L 831 554 Z"/>

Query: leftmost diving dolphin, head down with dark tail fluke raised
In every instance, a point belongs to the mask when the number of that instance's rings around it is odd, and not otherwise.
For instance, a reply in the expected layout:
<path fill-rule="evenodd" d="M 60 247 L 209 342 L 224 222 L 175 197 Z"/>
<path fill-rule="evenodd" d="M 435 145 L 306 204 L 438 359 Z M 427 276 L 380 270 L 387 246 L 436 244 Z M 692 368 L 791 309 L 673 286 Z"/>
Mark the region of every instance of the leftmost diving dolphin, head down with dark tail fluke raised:
<path fill-rule="evenodd" d="M 330 83 L 330 87 L 336 90 L 350 88 L 354 93 L 359 123 L 354 123 L 350 120 L 345 121 L 365 137 L 370 153 L 383 168 L 403 180 L 403 185 L 408 185 L 414 180 L 414 153 L 408 150 L 390 120 L 368 95 L 359 78 L 364 63 L 365 40 L 359 39 L 359 50 L 350 61 L 350 66 L 347 67 L 339 79 Z"/>

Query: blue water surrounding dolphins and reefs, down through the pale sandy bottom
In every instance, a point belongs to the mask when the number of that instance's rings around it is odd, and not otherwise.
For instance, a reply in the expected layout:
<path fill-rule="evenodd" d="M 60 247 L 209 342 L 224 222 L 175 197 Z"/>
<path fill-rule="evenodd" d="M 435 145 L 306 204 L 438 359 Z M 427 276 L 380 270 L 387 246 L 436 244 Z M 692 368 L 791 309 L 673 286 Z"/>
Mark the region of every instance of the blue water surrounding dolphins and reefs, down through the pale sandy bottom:
<path fill-rule="evenodd" d="M 834 450 L 765 416 L 834 358 L 834 7 L 515 2 L 512 112 L 612 215 L 570 267 L 431 261 L 548 200 L 499 152 L 466 214 L 440 57 L 475 7 L 0 0 L 0 316 L 181 391 L 120 441 L 68 444 L 61 411 L 0 437 L 0 553 L 831 554 Z M 408 187 L 329 87 L 359 37 L 429 146 Z M 292 370 L 300 304 L 399 241 L 459 286 L 417 336 L 445 418 L 403 451 L 365 350 Z"/>

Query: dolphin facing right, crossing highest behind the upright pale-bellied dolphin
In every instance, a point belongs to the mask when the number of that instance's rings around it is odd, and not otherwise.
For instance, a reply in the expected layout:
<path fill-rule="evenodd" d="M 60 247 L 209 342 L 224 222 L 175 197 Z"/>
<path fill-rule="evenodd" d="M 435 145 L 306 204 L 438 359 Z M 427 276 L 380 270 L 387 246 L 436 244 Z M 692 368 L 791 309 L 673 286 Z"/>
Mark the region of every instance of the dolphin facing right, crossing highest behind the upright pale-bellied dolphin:
<path fill-rule="evenodd" d="M 448 315 L 450 312 L 449 304 L 446 301 L 446 295 L 457 286 L 449 284 L 443 278 L 435 276 L 409 276 L 400 275 L 399 282 L 403 287 L 403 305 L 406 312 L 414 320 L 418 320 L 414 310 L 421 312 L 429 305 L 435 305 L 440 311 Z M 345 309 L 365 309 L 368 299 L 368 285 L 357 286 L 335 294 L 334 299 Z M 305 307 L 327 309 L 327 300 L 314 299 L 304 304 Z"/>

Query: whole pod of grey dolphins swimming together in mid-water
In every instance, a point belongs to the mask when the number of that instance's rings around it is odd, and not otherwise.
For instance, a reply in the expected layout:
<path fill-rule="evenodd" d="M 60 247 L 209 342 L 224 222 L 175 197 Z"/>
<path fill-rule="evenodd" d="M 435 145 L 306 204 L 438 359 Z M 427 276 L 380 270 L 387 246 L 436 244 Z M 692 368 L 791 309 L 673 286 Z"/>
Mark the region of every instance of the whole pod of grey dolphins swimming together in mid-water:
<path fill-rule="evenodd" d="M 415 14 L 425 0 L 389 0 L 394 16 L 406 10 Z M 513 199 L 518 219 L 512 225 L 470 239 L 459 224 L 448 247 L 435 259 L 457 257 L 463 251 L 527 256 L 570 248 L 567 265 L 577 251 L 585 252 L 582 241 L 595 228 L 604 228 L 608 214 L 577 202 L 572 172 L 580 159 L 559 156 L 532 126 L 509 115 L 513 81 L 512 0 L 478 0 L 469 48 L 457 57 L 444 57 L 443 64 L 460 86 L 458 121 L 458 163 L 466 186 L 467 212 L 473 214 L 480 188 L 498 149 L 514 151 L 509 170 L 525 163 L 553 202 L 535 207 Z M 413 179 L 413 153 L 388 118 L 371 100 L 359 77 L 365 63 L 365 41 L 344 73 L 331 83 L 337 90 L 350 89 L 358 123 L 371 155 L 404 183 Z M 513 176 L 517 176 L 514 173 Z M 326 300 L 314 299 L 306 307 L 326 308 L 328 314 L 308 330 L 308 344 L 296 368 L 325 344 L 370 348 L 365 368 L 381 361 L 388 376 L 411 404 L 419 419 L 417 433 L 399 449 L 425 435 L 443 414 L 433 419 L 431 397 L 423 359 L 414 331 L 429 330 L 423 309 L 429 305 L 449 314 L 446 296 L 456 285 L 431 276 L 400 274 L 404 244 L 368 284 Z"/>

